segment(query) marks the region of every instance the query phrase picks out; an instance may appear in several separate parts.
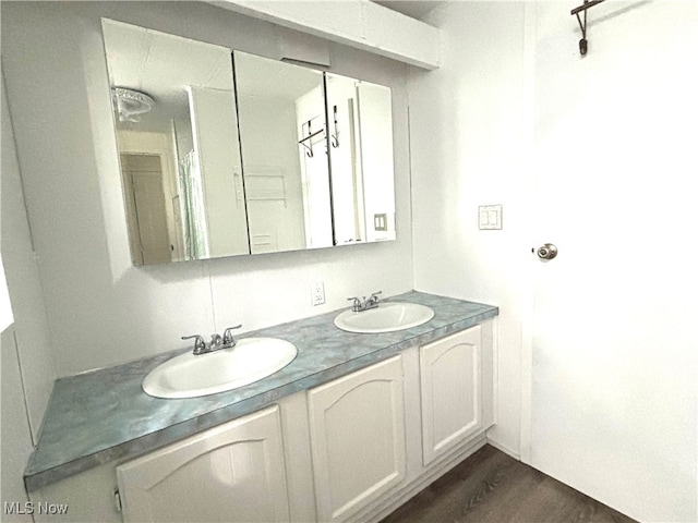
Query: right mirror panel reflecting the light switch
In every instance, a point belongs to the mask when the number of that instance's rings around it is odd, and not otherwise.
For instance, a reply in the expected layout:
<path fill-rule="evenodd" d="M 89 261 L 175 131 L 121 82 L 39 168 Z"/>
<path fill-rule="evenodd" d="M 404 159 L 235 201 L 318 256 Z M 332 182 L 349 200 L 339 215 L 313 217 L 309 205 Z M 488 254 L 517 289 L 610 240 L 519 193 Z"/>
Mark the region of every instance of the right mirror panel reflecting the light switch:
<path fill-rule="evenodd" d="M 390 88 L 326 73 L 337 245 L 395 240 Z"/>

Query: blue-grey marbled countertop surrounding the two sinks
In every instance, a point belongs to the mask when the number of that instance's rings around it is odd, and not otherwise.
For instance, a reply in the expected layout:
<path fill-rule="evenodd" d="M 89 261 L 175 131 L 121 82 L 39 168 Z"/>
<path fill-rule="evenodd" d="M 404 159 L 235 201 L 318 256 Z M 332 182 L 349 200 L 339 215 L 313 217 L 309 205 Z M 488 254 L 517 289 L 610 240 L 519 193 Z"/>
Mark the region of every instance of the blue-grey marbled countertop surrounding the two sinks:
<path fill-rule="evenodd" d="M 378 335 L 337 329 L 333 324 L 337 312 L 245 332 L 239 338 L 288 340 L 298 348 L 298 356 L 272 376 L 228 392 L 182 400 L 143 392 L 143 378 L 185 350 L 58 379 L 25 472 L 27 489 L 155 450 L 498 314 L 491 305 L 421 292 L 386 301 L 420 303 L 435 315 L 419 327 Z"/>

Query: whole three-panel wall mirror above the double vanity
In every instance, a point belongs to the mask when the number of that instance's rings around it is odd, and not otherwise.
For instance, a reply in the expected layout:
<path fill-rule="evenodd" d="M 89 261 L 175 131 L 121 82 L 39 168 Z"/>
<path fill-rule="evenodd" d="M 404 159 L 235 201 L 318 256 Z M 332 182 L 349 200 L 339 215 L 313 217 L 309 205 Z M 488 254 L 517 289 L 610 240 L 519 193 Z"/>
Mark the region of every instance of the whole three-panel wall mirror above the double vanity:
<path fill-rule="evenodd" d="M 103 29 L 135 265 L 395 240 L 388 87 Z"/>

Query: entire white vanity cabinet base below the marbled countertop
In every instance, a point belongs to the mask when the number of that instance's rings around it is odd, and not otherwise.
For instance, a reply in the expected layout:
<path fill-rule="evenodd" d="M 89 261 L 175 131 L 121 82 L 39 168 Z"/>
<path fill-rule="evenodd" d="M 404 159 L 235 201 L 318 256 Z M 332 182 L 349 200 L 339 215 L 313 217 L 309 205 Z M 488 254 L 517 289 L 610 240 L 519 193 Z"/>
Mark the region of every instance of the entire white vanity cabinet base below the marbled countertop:
<path fill-rule="evenodd" d="M 35 521 L 380 521 L 485 443 L 493 332 L 483 321 L 49 484 L 32 501 L 70 510 Z"/>

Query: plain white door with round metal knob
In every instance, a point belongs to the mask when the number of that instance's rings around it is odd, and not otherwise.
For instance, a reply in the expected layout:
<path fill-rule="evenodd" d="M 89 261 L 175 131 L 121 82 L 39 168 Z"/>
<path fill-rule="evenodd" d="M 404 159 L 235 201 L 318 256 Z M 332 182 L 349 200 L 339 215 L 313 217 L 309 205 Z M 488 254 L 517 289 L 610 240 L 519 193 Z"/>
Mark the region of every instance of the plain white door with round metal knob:
<path fill-rule="evenodd" d="M 537 13 L 531 247 L 558 254 L 531 254 L 525 459 L 635 519 L 696 521 L 698 10 L 594 8 L 580 59 L 553 4 Z"/>

